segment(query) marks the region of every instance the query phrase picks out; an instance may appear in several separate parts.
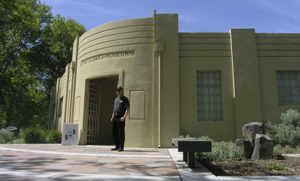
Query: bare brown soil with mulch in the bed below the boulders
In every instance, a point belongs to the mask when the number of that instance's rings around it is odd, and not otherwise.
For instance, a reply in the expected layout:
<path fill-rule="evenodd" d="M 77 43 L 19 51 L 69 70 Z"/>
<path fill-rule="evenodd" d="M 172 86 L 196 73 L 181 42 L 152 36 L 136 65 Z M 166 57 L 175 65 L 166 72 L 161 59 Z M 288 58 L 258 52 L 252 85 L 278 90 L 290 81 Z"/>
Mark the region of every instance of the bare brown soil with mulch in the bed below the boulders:
<path fill-rule="evenodd" d="M 300 176 L 299 157 L 276 155 L 272 160 L 198 162 L 215 176 Z M 288 169 L 272 170 L 268 164 L 285 165 Z"/>

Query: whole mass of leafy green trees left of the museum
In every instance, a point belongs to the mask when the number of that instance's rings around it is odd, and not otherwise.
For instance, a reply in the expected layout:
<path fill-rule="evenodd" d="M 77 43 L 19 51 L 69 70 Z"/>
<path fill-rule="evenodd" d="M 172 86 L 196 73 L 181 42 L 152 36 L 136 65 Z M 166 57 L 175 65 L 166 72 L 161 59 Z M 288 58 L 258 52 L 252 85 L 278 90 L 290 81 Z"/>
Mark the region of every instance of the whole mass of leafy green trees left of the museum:
<path fill-rule="evenodd" d="M 47 128 L 49 94 L 86 30 L 37 0 L 0 0 L 0 127 Z"/>

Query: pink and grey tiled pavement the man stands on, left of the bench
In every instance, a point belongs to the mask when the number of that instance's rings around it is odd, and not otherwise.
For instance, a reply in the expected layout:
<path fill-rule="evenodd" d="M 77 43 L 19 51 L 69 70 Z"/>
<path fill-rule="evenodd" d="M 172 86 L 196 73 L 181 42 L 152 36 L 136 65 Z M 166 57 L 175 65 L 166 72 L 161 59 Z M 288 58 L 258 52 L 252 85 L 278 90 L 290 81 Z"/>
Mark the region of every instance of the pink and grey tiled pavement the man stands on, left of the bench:
<path fill-rule="evenodd" d="M 111 151 L 110 148 L 60 144 L 0 144 L 0 168 L 40 173 L 156 176 L 179 179 L 179 173 L 167 149 L 126 148 L 124 152 L 117 152 Z"/>

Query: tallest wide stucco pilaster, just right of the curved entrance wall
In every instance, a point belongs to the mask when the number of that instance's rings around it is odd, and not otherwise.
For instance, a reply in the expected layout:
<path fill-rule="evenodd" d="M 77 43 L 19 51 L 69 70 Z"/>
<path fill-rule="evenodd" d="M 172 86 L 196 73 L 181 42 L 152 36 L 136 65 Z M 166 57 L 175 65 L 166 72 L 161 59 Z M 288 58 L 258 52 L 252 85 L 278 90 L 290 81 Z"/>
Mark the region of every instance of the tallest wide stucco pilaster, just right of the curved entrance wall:
<path fill-rule="evenodd" d="M 161 96 L 159 98 L 161 108 L 160 144 L 162 148 L 166 148 L 172 146 L 172 138 L 179 137 L 178 14 L 154 15 L 154 42 L 164 42 L 164 51 L 161 52 L 160 56 L 161 76 L 157 76 L 159 70 L 155 69 L 154 79 L 161 79 Z M 155 52 L 155 65 L 158 62 L 158 54 Z M 157 91 L 154 91 L 154 96 L 158 95 Z M 154 105 L 154 109 L 158 109 L 157 104 Z M 153 112 L 155 114 L 155 110 Z M 154 134 L 153 140 L 156 140 L 155 136 Z"/>

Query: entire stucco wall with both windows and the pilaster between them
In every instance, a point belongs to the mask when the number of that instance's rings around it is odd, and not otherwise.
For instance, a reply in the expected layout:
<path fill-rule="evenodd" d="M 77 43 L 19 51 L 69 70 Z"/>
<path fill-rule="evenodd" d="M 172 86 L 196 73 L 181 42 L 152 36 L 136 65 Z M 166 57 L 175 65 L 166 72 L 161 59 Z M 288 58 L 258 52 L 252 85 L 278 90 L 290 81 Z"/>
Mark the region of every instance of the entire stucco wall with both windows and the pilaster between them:
<path fill-rule="evenodd" d="M 180 130 L 217 141 L 241 139 L 241 128 L 299 103 L 278 104 L 276 70 L 300 70 L 299 34 L 257 34 L 254 29 L 179 34 Z M 229 48 L 230 46 L 230 48 Z M 228 55 L 228 54 L 231 55 Z M 221 71 L 222 121 L 197 121 L 196 71 Z"/>

